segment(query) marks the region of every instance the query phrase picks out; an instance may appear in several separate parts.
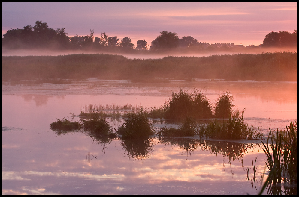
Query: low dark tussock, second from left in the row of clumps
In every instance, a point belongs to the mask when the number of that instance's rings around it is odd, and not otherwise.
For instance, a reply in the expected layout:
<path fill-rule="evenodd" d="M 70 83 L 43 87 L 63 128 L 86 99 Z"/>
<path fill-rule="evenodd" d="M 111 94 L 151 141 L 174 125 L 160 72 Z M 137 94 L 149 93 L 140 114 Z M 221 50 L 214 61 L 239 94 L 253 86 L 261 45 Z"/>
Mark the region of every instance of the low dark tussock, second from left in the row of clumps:
<path fill-rule="evenodd" d="M 100 117 L 100 114 L 96 111 L 92 113 L 90 119 L 82 119 L 82 125 L 84 128 L 92 129 L 96 134 L 100 135 L 111 135 L 112 126 L 104 118 Z"/>

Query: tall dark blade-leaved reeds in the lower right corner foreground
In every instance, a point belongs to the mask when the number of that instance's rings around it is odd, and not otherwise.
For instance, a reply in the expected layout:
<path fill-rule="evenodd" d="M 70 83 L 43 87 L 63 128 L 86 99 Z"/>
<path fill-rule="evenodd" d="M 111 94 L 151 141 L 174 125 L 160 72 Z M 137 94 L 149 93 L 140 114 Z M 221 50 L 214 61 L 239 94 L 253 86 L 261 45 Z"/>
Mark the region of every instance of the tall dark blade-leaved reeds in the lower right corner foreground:
<path fill-rule="evenodd" d="M 277 129 L 275 134 L 269 128 L 267 146 L 263 143 L 263 150 L 267 156 L 266 165 L 270 171 L 265 184 L 281 183 L 282 172 L 284 181 L 297 183 L 297 121 L 291 122 L 286 129 L 287 132 Z"/>

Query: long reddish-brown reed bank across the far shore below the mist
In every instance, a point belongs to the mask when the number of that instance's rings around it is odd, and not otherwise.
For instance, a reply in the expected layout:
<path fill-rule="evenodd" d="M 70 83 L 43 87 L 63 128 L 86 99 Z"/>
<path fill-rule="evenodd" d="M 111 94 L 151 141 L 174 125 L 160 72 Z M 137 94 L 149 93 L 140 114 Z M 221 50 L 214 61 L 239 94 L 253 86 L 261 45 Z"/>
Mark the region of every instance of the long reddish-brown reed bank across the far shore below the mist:
<path fill-rule="evenodd" d="M 226 80 L 297 81 L 297 53 L 212 55 L 128 59 L 120 55 L 2 56 L 2 81 L 23 79 L 224 78 Z M 158 80 L 159 81 L 159 80 Z"/>

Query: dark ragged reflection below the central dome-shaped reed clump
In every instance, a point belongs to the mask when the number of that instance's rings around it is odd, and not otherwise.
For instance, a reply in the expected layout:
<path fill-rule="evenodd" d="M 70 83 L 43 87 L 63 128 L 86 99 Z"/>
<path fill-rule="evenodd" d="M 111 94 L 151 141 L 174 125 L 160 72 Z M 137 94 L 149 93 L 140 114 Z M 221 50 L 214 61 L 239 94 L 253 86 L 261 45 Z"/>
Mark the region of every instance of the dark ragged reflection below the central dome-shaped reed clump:
<path fill-rule="evenodd" d="M 127 158 L 144 161 L 152 153 L 154 138 L 121 139 L 121 145 Z M 125 154 L 124 153 L 124 154 Z"/>

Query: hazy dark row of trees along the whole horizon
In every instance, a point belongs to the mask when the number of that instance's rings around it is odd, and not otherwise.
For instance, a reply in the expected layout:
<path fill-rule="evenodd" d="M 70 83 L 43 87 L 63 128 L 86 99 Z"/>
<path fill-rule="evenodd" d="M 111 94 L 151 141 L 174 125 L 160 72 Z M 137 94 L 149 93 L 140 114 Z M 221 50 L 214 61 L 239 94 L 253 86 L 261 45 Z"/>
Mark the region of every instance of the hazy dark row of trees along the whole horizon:
<path fill-rule="evenodd" d="M 215 51 L 233 50 L 257 47 L 297 47 L 297 30 L 293 33 L 288 31 L 272 31 L 266 35 L 263 43 L 259 46 L 235 45 L 234 43 L 202 43 L 194 39 L 193 36 L 180 38 L 177 33 L 162 31 L 151 44 L 146 40 L 138 40 L 137 46 L 131 42 L 129 37 L 122 40 L 117 36 L 108 37 L 106 33 L 101 33 L 100 37 L 94 37 L 94 31 L 90 30 L 87 36 L 67 36 L 65 28 L 49 28 L 46 22 L 36 21 L 35 26 L 27 25 L 23 29 L 10 29 L 2 38 L 2 47 L 9 49 L 18 48 L 52 48 L 52 49 L 99 49 L 114 51 L 168 51 L 173 49 L 192 51 Z M 120 40 L 120 41 L 119 41 Z"/>

